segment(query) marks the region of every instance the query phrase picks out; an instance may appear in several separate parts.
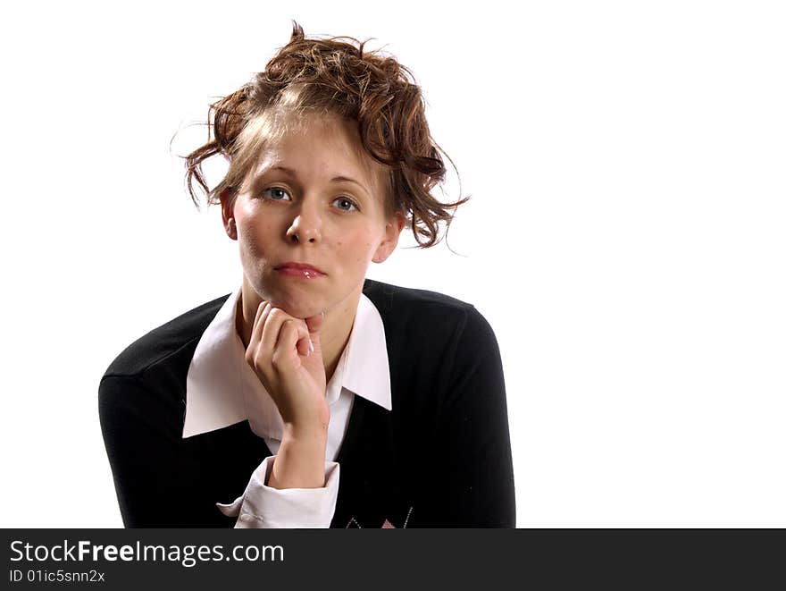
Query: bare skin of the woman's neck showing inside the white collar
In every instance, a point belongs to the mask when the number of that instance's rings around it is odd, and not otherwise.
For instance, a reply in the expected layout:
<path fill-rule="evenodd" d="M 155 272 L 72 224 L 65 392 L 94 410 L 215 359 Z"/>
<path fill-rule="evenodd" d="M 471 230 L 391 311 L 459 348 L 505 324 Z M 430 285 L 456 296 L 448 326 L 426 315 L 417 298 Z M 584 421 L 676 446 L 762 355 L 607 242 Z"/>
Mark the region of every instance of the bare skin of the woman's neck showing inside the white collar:
<path fill-rule="evenodd" d="M 341 353 L 344 352 L 344 348 L 349 341 L 349 334 L 352 332 L 352 326 L 355 323 L 355 312 L 357 311 L 357 304 L 362 292 L 363 283 L 360 284 L 357 290 L 350 293 L 345 300 L 339 302 L 339 305 L 325 310 L 325 317 L 322 321 L 322 329 L 319 335 L 320 343 L 322 344 L 325 379 L 328 382 L 330 382 L 333 372 L 336 371 Z M 247 282 L 246 277 L 244 277 L 235 315 L 235 328 L 240 340 L 243 342 L 244 348 L 248 348 L 248 343 L 251 341 L 256 310 L 259 308 L 261 301 L 262 299 Z"/>

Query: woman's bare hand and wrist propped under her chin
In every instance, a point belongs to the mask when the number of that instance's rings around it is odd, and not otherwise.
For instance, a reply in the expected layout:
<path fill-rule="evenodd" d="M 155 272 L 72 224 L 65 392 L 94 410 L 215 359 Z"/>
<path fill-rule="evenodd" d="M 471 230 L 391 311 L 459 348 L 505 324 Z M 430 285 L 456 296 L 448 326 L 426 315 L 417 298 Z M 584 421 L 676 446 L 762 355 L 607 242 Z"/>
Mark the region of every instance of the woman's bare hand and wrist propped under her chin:
<path fill-rule="evenodd" d="M 271 395 L 284 423 L 266 483 L 273 488 L 322 488 L 330 409 L 319 331 L 322 316 L 289 316 L 263 301 L 256 310 L 246 361 Z"/>

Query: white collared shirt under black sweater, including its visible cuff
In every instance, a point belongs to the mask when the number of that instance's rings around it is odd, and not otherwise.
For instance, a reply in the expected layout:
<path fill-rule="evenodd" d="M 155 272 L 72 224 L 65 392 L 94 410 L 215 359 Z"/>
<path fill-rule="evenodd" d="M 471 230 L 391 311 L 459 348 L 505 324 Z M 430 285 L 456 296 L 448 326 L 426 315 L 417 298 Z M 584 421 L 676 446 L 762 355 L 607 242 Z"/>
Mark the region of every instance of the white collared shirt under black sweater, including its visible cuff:
<path fill-rule="evenodd" d="M 208 433 L 248 420 L 272 453 L 279 450 L 283 424 L 270 394 L 247 364 L 236 327 L 238 288 L 224 302 L 197 343 L 186 380 L 183 437 Z M 339 494 L 335 459 L 347 431 L 355 396 L 392 408 L 385 328 L 376 307 L 361 294 L 347 347 L 325 397 L 330 407 L 322 488 L 276 489 L 265 485 L 275 455 L 255 469 L 246 491 L 229 504 L 216 502 L 236 528 L 328 528 Z"/>

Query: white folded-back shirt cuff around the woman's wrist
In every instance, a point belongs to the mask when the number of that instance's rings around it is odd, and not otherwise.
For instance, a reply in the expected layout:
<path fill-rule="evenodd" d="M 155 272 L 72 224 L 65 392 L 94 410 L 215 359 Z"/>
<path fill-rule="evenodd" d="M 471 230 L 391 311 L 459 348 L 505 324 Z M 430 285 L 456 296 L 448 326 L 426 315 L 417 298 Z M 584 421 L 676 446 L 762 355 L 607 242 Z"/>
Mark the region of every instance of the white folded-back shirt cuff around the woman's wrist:
<path fill-rule="evenodd" d="M 276 456 L 269 456 L 254 470 L 246 491 L 234 502 L 216 507 L 228 517 L 238 517 L 235 528 L 330 528 L 339 496 L 339 464 L 325 462 L 322 488 L 272 488 L 265 485 Z"/>

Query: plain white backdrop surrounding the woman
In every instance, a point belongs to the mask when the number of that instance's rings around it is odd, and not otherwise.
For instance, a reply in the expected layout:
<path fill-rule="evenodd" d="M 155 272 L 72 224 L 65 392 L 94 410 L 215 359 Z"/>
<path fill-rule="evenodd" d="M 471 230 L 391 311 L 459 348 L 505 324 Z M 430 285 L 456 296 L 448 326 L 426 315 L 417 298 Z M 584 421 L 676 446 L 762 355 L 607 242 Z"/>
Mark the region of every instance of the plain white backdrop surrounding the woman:
<path fill-rule="evenodd" d="M 0 525 L 121 526 L 99 379 L 240 278 L 177 153 L 296 19 L 409 66 L 472 195 L 370 276 L 494 327 L 518 525 L 786 526 L 781 3 L 13 5 Z"/>

